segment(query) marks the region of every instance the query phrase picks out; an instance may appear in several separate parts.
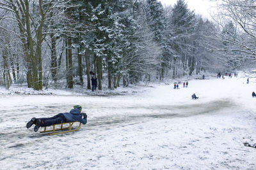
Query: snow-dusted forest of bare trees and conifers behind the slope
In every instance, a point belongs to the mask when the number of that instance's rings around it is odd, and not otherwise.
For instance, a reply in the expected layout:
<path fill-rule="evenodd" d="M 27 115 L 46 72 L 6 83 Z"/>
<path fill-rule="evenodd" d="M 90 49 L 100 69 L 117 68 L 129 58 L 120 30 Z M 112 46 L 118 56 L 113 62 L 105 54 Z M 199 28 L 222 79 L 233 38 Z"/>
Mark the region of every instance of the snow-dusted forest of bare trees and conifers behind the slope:
<path fill-rule="evenodd" d="M 253 69 L 256 3 L 221 0 L 205 20 L 184 0 L 0 0 L 0 85 L 115 89 Z"/>

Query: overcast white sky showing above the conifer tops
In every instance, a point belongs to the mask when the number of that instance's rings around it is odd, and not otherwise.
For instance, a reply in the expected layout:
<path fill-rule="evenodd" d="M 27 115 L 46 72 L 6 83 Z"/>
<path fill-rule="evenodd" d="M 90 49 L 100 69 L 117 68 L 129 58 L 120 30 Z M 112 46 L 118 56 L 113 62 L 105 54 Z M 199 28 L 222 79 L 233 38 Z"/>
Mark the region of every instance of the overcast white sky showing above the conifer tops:
<path fill-rule="evenodd" d="M 159 0 L 163 6 L 166 5 L 174 5 L 177 0 Z M 214 12 L 214 6 L 216 6 L 216 0 L 185 0 L 188 4 L 188 8 L 191 10 L 195 10 L 196 14 L 200 14 L 203 17 L 207 17 L 211 19 L 211 14 Z"/>

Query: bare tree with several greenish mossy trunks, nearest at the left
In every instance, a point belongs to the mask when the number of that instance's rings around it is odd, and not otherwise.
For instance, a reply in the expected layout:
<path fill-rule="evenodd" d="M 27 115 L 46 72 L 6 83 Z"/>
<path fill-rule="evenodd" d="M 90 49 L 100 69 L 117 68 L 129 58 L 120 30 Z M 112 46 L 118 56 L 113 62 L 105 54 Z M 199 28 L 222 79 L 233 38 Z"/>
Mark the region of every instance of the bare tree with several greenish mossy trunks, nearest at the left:
<path fill-rule="evenodd" d="M 15 20 L 19 28 L 24 58 L 26 60 L 28 87 L 35 90 L 42 89 L 42 43 L 49 34 L 49 27 L 45 23 L 65 11 L 68 1 L 6 1 L 0 3 L 0 8 L 10 11 L 9 20 Z"/>

